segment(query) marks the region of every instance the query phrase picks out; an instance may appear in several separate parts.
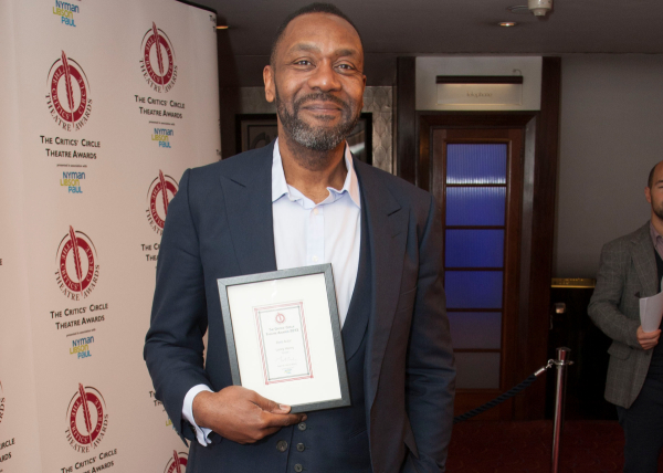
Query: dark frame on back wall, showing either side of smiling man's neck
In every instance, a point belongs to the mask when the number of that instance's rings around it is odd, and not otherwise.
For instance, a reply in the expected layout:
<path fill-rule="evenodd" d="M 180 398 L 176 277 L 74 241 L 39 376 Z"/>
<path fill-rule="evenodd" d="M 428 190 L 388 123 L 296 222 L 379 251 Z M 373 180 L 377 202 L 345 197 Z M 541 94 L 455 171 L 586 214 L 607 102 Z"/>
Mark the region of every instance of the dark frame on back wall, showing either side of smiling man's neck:
<path fill-rule="evenodd" d="M 235 120 L 238 153 L 266 146 L 278 136 L 276 114 L 238 114 Z M 371 113 L 361 113 L 347 141 L 357 159 L 372 166 Z"/>

